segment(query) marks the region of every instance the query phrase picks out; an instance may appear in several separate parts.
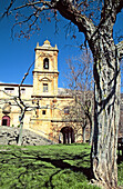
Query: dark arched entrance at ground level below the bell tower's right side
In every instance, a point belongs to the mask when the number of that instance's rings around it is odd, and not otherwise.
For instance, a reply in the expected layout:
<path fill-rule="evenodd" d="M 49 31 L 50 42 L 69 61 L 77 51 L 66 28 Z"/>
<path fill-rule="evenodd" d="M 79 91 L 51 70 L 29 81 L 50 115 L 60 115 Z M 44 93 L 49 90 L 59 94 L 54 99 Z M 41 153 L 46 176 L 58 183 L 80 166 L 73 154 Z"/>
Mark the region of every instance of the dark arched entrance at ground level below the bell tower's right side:
<path fill-rule="evenodd" d="M 62 141 L 60 139 L 60 143 L 73 143 L 74 142 L 74 130 L 72 127 L 64 127 L 61 129 L 60 133 L 62 133 Z"/>

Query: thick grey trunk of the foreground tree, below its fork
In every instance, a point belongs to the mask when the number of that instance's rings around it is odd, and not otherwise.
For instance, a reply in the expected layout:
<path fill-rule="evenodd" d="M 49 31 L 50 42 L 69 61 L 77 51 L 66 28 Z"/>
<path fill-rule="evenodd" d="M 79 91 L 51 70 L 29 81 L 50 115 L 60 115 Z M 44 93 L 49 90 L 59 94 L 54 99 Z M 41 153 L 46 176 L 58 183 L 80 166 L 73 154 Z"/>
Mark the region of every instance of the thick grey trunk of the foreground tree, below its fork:
<path fill-rule="evenodd" d="M 92 181 L 117 187 L 117 130 L 120 120 L 120 63 L 113 40 L 99 37 L 94 54 L 94 133 Z M 96 51 L 94 51 L 96 50 Z"/>

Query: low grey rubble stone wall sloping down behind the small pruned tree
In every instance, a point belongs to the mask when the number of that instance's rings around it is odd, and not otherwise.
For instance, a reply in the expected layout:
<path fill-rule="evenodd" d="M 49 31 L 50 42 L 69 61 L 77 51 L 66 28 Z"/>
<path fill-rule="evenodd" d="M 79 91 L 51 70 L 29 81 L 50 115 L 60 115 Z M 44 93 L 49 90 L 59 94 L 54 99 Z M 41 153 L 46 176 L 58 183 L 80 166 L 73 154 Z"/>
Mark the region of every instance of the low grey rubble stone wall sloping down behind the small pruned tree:
<path fill-rule="evenodd" d="M 18 136 L 19 136 L 19 128 L 12 128 L 6 126 L 0 127 L 0 145 L 17 145 Z M 23 129 L 22 145 L 43 146 L 43 145 L 53 145 L 53 142 L 41 137 L 40 135 Z"/>

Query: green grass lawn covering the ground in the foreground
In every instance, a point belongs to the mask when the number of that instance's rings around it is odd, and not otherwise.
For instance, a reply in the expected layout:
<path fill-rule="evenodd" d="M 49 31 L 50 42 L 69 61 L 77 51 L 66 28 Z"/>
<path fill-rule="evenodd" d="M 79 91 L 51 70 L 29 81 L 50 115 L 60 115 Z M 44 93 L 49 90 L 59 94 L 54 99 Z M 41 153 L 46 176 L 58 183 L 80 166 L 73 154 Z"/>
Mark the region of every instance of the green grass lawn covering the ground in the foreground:
<path fill-rule="evenodd" d="M 98 189 L 89 183 L 90 146 L 0 146 L 0 189 Z M 119 185 L 123 185 L 123 162 Z"/>

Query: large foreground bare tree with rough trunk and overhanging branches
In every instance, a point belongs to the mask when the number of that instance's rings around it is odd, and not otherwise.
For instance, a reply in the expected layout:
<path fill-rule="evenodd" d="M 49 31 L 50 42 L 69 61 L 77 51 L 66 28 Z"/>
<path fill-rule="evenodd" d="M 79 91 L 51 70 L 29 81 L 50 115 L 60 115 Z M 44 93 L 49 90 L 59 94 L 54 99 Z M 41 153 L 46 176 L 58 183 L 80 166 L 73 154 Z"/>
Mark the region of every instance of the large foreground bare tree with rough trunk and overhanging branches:
<path fill-rule="evenodd" d="M 29 26 L 27 33 L 34 29 L 37 21 L 43 16 L 50 20 L 49 10 L 53 10 L 55 18 L 58 10 L 84 33 L 94 59 L 94 136 L 91 153 L 93 182 L 116 188 L 120 58 L 123 56 L 123 42 L 114 43 L 113 27 L 117 13 L 123 9 L 123 0 L 30 0 L 18 3 L 19 1 L 11 0 L 3 16 L 16 13 L 16 24 Z"/>

